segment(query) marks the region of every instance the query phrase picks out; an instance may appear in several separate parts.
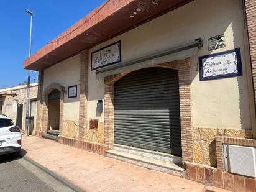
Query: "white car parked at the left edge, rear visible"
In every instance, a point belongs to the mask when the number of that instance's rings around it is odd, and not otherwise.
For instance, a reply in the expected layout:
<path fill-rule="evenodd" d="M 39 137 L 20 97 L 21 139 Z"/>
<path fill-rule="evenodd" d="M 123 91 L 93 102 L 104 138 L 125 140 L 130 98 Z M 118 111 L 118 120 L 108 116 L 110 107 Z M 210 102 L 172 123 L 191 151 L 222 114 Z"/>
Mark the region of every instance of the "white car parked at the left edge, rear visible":
<path fill-rule="evenodd" d="M 0 115 L 0 155 L 18 157 L 21 153 L 22 136 L 19 127 L 5 115 Z"/>

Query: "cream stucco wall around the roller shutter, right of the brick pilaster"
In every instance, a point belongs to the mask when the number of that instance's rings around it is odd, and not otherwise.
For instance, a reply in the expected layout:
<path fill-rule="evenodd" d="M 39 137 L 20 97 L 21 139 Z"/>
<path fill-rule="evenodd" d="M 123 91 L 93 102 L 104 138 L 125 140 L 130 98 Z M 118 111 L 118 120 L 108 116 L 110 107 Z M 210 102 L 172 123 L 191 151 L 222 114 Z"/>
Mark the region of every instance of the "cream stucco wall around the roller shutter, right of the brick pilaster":
<path fill-rule="evenodd" d="M 221 5 L 221 6 L 220 6 Z M 195 0 L 186 6 L 158 17 L 136 29 L 101 43 L 91 52 L 121 40 L 122 62 L 149 53 L 188 43 L 201 37 L 204 47 L 190 58 L 191 101 L 194 127 L 250 129 L 250 110 L 245 70 L 244 21 L 240 0 Z M 209 37 L 224 34 L 226 47 L 208 51 Z M 243 76 L 211 81 L 199 81 L 198 57 L 211 53 L 241 48 Z M 91 60 L 89 57 L 89 64 Z M 99 118 L 96 100 L 104 98 L 103 79 L 96 80 L 95 71 L 89 66 L 88 119 Z"/>

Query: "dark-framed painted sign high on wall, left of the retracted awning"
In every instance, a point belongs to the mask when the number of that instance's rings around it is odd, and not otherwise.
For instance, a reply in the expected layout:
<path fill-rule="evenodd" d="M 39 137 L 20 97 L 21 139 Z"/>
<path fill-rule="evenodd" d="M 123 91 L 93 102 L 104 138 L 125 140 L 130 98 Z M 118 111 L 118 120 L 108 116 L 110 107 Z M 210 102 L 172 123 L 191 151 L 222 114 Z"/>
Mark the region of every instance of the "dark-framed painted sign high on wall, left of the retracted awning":
<path fill-rule="evenodd" d="M 91 70 L 121 62 L 121 41 L 91 53 Z"/>

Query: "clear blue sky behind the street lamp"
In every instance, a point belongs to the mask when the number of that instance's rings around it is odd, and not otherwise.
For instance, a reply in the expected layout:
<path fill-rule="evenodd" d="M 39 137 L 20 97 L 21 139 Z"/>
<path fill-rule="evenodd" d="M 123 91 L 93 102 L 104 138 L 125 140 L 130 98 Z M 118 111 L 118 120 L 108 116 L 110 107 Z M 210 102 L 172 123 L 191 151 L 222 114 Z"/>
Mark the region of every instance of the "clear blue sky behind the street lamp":
<path fill-rule="evenodd" d="M 50 42 L 104 0 L 0 0 L 0 88 L 27 80 L 23 62 L 29 55 L 30 16 L 34 12 L 32 53 Z M 34 82 L 34 73 L 31 73 Z M 37 78 L 37 75 L 36 75 Z"/>

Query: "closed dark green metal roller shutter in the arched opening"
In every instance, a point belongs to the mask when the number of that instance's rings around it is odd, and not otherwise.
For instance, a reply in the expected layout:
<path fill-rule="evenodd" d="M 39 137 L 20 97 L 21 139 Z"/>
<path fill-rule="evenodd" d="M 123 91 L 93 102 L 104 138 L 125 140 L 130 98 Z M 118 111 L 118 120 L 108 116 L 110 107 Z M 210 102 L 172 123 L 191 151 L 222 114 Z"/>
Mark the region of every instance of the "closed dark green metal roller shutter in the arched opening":
<path fill-rule="evenodd" d="M 181 155 L 178 70 L 146 68 L 114 84 L 114 143 Z"/>

